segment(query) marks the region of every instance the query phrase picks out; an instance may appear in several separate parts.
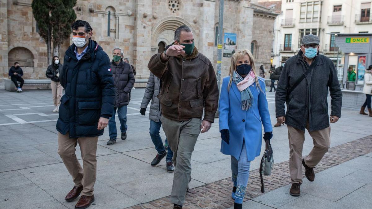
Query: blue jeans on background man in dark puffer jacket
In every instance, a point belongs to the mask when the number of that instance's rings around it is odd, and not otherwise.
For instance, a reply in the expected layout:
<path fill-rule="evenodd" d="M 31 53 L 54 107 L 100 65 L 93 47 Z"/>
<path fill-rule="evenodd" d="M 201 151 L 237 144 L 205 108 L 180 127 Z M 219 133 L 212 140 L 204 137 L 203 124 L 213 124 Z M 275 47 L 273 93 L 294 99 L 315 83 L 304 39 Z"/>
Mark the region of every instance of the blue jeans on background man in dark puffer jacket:
<path fill-rule="evenodd" d="M 126 132 L 128 126 L 126 125 L 126 111 L 128 110 L 128 106 L 124 105 L 118 107 L 118 116 L 120 121 L 120 131 L 122 133 Z M 109 119 L 109 136 L 110 138 L 116 139 L 118 136 L 118 132 L 116 131 L 116 123 L 115 123 L 115 115 L 116 115 L 116 107 L 114 107 L 112 117 Z"/>

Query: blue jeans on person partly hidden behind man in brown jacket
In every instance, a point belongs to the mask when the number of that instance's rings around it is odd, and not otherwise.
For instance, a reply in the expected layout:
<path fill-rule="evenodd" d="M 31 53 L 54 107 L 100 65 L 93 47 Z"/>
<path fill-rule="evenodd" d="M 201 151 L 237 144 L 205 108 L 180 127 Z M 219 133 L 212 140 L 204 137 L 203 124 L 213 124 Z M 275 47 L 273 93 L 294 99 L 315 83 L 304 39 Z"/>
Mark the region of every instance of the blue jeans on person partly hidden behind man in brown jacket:
<path fill-rule="evenodd" d="M 153 141 L 155 145 L 156 151 L 158 151 L 158 154 L 161 155 L 165 152 L 165 148 L 163 145 L 163 141 L 161 140 L 160 136 L 160 127 L 161 127 L 161 121 L 155 122 L 154 120 L 150 120 L 150 136 L 151 140 Z M 167 141 L 167 139 L 166 139 Z M 171 162 L 173 157 L 173 152 L 170 150 L 170 147 L 168 146 L 168 153 L 166 157 L 166 162 Z"/>

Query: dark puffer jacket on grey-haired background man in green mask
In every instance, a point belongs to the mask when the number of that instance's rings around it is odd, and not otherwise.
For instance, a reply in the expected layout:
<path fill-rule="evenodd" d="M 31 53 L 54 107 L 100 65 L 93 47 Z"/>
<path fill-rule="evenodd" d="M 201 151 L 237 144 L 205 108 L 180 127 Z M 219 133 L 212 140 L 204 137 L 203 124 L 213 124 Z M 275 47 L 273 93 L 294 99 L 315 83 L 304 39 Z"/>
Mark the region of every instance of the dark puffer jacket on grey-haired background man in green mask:
<path fill-rule="evenodd" d="M 134 79 L 131 65 L 123 60 L 116 65 L 111 62 L 112 76 L 115 83 L 115 107 L 121 107 L 129 104 L 129 92 L 136 81 Z"/>

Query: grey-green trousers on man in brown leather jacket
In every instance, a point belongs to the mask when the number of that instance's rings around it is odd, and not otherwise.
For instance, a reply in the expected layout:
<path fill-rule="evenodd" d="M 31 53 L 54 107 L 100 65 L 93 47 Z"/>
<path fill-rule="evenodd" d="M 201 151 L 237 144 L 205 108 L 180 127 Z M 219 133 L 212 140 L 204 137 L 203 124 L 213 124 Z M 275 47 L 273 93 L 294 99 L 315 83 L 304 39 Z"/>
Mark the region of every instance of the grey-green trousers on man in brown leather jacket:
<path fill-rule="evenodd" d="M 160 118 L 168 145 L 173 151 L 174 176 L 170 202 L 183 205 L 191 181 L 191 155 L 200 134 L 201 119 L 177 122 Z"/>

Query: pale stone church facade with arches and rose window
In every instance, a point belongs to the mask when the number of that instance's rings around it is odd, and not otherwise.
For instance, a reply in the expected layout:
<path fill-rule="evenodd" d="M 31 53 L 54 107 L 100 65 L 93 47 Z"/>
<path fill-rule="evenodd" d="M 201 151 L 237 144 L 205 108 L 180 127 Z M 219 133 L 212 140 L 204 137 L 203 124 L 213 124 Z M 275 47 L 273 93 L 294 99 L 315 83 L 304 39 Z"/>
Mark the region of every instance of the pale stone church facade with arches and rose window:
<path fill-rule="evenodd" d="M 273 23 L 277 14 L 254 3 L 257 0 L 225 0 L 224 33 L 236 34 L 237 49 L 251 49 L 257 68 L 270 67 Z M 20 62 L 25 78 L 45 78 L 47 45 L 33 18 L 32 0 L 0 0 L 0 79 Z M 93 28 L 92 38 L 111 57 L 116 46 L 137 68 L 137 75 L 150 74 L 150 57 L 174 41 L 174 30 L 188 25 L 199 52 L 217 63 L 218 0 L 77 0 L 77 19 Z M 60 58 L 72 44 L 65 41 Z M 230 58 L 222 59 L 222 76 L 228 74 Z M 268 71 L 268 70 L 267 70 Z"/>

